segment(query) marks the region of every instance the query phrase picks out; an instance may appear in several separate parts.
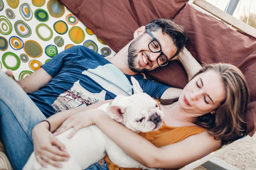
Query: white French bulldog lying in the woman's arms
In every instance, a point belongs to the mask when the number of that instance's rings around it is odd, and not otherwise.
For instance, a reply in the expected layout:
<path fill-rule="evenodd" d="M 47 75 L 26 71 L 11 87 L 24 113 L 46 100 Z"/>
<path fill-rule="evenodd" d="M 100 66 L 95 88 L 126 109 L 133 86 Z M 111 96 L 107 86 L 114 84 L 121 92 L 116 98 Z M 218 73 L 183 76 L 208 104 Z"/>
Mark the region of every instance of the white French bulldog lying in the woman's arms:
<path fill-rule="evenodd" d="M 134 95 L 117 96 L 111 103 L 103 104 L 99 108 L 105 111 L 110 118 L 117 120 L 127 128 L 135 132 L 149 132 L 157 130 L 162 124 L 163 112 L 159 110 L 157 102 L 148 94 L 143 93 L 139 83 L 132 77 Z M 67 152 L 70 154 L 68 162 L 61 162 L 62 169 L 86 169 L 91 164 L 99 161 L 107 154 L 110 160 L 120 167 L 148 169 L 139 164 L 122 151 L 104 132 L 91 125 L 82 128 L 68 139 L 71 129 L 56 136 L 63 142 Z M 48 164 L 42 167 L 36 161 L 34 152 L 23 167 L 23 170 L 32 169 L 59 169 Z"/>

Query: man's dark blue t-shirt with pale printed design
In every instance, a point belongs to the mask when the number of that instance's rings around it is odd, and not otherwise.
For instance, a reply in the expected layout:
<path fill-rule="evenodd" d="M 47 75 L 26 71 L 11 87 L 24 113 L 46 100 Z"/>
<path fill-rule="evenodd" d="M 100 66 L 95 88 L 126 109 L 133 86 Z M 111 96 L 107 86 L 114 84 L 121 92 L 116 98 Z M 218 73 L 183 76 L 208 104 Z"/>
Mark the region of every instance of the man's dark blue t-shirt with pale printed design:
<path fill-rule="evenodd" d="M 102 55 L 84 46 L 73 46 L 44 64 L 53 79 L 28 95 L 46 117 L 70 108 L 89 106 L 122 94 L 132 95 L 131 76 L 122 73 Z M 161 97 L 168 86 L 134 75 L 143 91 Z"/>

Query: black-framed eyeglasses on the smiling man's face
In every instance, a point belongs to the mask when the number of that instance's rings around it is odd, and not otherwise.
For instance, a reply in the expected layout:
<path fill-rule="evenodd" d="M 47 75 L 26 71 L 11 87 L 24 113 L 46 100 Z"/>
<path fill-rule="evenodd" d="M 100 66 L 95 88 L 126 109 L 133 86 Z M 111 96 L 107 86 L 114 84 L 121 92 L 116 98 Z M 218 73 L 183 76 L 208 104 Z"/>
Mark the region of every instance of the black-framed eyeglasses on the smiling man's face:
<path fill-rule="evenodd" d="M 159 64 L 160 67 L 166 66 L 169 63 L 169 60 L 168 57 L 164 55 L 164 52 L 162 52 L 160 43 L 158 42 L 158 40 L 156 40 L 156 38 L 149 29 L 146 29 L 146 33 L 148 33 L 153 39 L 149 42 L 149 50 L 154 53 L 160 52 L 159 57 L 157 57 L 156 59 L 157 64 Z"/>

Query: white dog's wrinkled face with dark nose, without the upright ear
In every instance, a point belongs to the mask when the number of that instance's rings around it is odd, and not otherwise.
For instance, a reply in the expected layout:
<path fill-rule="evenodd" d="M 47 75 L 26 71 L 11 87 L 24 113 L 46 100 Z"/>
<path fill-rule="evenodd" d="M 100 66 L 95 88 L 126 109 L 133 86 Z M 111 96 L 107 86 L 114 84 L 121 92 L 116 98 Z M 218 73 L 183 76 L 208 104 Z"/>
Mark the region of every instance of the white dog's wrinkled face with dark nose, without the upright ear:
<path fill-rule="evenodd" d="M 157 102 L 145 93 L 117 96 L 110 104 L 109 111 L 111 118 L 135 132 L 159 129 L 164 117 Z"/>

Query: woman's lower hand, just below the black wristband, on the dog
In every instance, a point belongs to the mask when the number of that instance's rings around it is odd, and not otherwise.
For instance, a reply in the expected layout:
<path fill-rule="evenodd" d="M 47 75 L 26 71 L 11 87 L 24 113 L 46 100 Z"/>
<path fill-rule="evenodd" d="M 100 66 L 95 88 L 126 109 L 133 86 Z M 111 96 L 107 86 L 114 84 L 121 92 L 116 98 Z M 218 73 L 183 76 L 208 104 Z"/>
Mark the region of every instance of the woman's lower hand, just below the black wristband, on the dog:
<path fill-rule="evenodd" d="M 60 162 L 68 161 L 70 156 L 65 152 L 63 143 L 48 131 L 46 125 L 46 123 L 39 123 L 32 130 L 36 160 L 43 167 L 46 167 L 47 163 L 62 167 Z"/>

